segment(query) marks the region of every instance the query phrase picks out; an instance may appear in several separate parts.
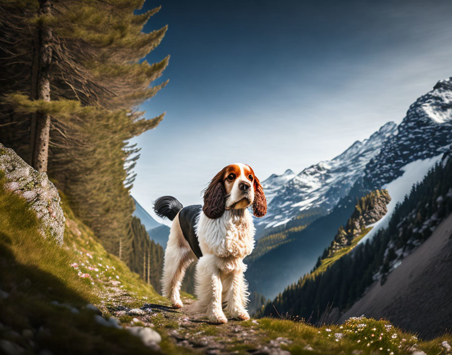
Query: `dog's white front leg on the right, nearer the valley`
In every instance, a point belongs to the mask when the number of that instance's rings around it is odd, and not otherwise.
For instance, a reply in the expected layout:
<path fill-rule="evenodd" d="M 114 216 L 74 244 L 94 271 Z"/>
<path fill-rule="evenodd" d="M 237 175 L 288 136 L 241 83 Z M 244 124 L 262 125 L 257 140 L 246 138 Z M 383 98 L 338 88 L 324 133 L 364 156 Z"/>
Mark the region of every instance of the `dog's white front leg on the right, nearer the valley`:
<path fill-rule="evenodd" d="M 244 321 L 250 319 L 250 315 L 246 310 L 247 303 L 247 284 L 243 277 L 243 268 L 234 270 L 230 275 L 231 290 L 228 293 L 228 306 L 227 310 L 234 318 L 239 318 Z"/>

